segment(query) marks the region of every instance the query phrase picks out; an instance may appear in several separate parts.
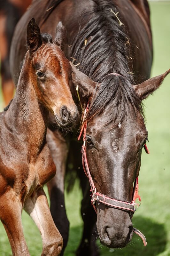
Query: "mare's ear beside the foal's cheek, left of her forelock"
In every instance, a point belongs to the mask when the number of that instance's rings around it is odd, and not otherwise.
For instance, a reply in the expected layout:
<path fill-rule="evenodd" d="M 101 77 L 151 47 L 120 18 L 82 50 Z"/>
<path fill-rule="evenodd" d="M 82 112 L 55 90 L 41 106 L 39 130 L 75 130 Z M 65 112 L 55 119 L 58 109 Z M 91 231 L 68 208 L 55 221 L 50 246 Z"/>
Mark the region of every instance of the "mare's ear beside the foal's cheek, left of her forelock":
<path fill-rule="evenodd" d="M 91 80 L 88 76 L 84 73 L 79 71 L 70 61 L 70 65 L 72 66 L 72 81 L 73 84 L 76 86 L 78 85 L 83 96 L 90 97 L 93 95 L 93 92 L 96 88 L 97 83 Z"/>

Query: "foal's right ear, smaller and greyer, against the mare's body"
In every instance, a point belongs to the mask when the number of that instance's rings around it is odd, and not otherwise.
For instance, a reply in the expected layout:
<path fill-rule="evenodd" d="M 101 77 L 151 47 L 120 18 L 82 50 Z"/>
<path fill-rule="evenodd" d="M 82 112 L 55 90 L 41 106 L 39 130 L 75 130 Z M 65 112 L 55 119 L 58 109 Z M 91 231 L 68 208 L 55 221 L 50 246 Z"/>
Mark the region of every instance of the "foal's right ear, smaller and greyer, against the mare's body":
<path fill-rule="evenodd" d="M 63 51 L 64 45 L 66 44 L 66 40 L 67 40 L 66 28 L 63 26 L 62 22 L 59 21 L 56 28 L 56 37 L 54 39 L 54 43 L 57 44 Z"/>

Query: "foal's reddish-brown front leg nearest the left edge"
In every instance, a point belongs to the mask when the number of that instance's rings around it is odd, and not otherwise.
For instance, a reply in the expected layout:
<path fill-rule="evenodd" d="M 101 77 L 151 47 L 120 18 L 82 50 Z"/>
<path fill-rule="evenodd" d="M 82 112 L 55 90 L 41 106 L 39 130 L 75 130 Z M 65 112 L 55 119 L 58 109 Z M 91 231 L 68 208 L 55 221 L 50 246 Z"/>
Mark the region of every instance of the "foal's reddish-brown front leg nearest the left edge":
<path fill-rule="evenodd" d="M 0 219 L 8 235 L 14 256 L 29 256 L 21 222 L 22 204 L 13 189 L 0 196 Z"/>

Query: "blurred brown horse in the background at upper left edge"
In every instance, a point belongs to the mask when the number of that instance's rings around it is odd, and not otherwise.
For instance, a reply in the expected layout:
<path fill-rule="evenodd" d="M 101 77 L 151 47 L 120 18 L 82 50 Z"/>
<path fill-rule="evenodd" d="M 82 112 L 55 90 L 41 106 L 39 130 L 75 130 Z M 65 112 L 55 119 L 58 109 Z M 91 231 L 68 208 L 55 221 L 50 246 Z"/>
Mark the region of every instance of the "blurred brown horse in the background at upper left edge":
<path fill-rule="evenodd" d="M 0 74 L 6 105 L 12 99 L 14 93 L 14 84 L 9 69 L 12 36 L 17 22 L 31 2 L 32 0 L 0 0 Z"/>

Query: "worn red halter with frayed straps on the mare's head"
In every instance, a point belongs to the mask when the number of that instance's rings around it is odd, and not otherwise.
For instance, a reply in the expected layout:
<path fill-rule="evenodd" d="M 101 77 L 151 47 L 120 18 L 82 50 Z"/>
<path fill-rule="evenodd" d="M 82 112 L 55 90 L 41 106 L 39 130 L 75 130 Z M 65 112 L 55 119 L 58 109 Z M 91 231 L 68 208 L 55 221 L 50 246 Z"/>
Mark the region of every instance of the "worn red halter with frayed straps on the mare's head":
<path fill-rule="evenodd" d="M 113 74 L 116 75 L 115 73 L 113 73 Z M 87 104 L 87 108 L 84 111 L 84 116 L 83 116 L 83 121 L 82 121 L 83 125 L 81 127 L 81 132 L 80 132 L 80 135 L 78 137 L 78 140 L 80 140 L 81 135 L 83 133 L 83 145 L 82 145 L 82 149 L 81 149 L 81 152 L 82 152 L 82 164 L 83 164 L 84 172 L 85 172 L 86 176 L 89 179 L 89 183 L 90 183 L 90 187 L 91 187 L 91 190 L 90 190 L 92 192 L 91 204 L 93 205 L 93 208 L 94 208 L 96 213 L 97 213 L 97 210 L 96 210 L 95 204 L 97 202 L 97 204 L 102 203 L 102 204 L 105 204 L 105 205 L 107 205 L 109 207 L 112 207 L 112 208 L 116 208 L 116 209 L 119 209 L 119 210 L 127 211 L 127 212 L 130 213 L 131 216 L 133 216 L 133 214 L 134 214 L 134 212 L 136 210 L 135 207 L 134 207 L 134 205 L 136 204 L 135 200 L 138 198 L 139 201 L 141 202 L 141 197 L 139 196 L 139 193 L 138 193 L 138 177 L 135 179 L 135 182 L 134 182 L 133 199 L 132 199 L 131 203 L 130 202 L 121 201 L 121 200 L 117 200 L 117 199 L 114 199 L 114 198 L 111 198 L 111 197 L 108 197 L 108 196 L 103 195 L 103 194 L 101 194 L 101 193 L 96 191 L 96 187 L 95 187 L 93 179 L 91 177 L 91 173 L 90 173 L 90 169 L 89 169 L 89 165 L 88 165 L 88 161 L 87 161 L 87 156 L 86 156 L 86 129 L 87 129 L 87 122 L 86 121 L 84 122 L 84 120 L 85 120 L 85 117 L 86 117 L 86 113 L 88 112 L 88 109 L 89 109 L 89 102 Z M 146 147 L 146 144 L 144 145 L 144 149 L 145 149 L 147 154 L 150 153 L 149 150 Z M 140 204 L 136 204 L 136 205 L 139 206 Z M 136 233 L 138 236 L 140 236 L 142 238 L 143 244 L 144 244 L 144 246 L 146 246 L 147 242 L 146 242 L 145 236 L 139 230 L 137 230 L 136 228 L 133 228 L 133 232 Z"/>

